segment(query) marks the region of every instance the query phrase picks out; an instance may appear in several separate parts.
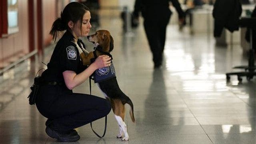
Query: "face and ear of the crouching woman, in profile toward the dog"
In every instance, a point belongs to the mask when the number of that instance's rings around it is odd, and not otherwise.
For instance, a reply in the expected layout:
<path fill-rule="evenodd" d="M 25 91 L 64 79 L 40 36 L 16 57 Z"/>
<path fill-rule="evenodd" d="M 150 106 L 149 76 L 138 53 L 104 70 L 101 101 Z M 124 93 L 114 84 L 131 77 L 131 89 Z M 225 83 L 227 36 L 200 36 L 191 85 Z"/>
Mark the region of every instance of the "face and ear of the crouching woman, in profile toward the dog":
<path fill-rule="evenodd" d="M 90 28 L 92 28 L 90 24 L 90 19 L 91 19 L 91 14 L 89 11 L 86 11 L 86 13 L 83 16 L 82 20 L 82 27 L 80 27 L 80 20 L 78 20 L 73 27 L 73 33 L 76 35 L 76 37 L 83 37 L 83 36 L 88 36 L 90 32 Z M 82 34 L 81 34 L 81 29 L 82 28 Z"/>

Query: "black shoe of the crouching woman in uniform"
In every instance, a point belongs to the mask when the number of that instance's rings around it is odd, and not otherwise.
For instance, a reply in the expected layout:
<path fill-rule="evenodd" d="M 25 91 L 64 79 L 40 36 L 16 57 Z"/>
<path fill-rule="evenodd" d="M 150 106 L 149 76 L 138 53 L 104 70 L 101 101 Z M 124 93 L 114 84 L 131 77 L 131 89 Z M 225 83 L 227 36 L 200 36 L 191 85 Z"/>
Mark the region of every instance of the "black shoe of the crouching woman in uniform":
<path fill-rule="evenodd" d="M 48 136 L 50 136 L 51 138 L 56 138 L 60 142 L 76 142 L 80 139 L 80 136 L 78 135 L 76 130 L 71 130 L 67 133 L 60 133 L 46 126 L 45 132 L 46 134 L 48 134 Z"/>

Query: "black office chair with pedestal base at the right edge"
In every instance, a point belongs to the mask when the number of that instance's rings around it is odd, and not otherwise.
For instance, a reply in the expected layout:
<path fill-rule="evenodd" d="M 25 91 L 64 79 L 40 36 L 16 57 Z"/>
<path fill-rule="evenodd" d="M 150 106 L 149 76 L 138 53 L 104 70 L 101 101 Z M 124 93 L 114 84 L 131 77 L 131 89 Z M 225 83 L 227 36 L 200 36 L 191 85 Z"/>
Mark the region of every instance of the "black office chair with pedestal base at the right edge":
<path fill-rule="evenodd" d="M 234 68 L 244 69 L 244 72 L 230 72 L 226 73 L 227 82 L 230 81 L 230 75 L 237 75 L 239 83 L 242 82 L 241 76 L 246 76 L 246 79 L 249 81 L 256 76 L 256 66 L 254 64 L 254 49 L 252 48 L 252 30 L 256 30 L 256 18 L 241 18 L 239 20 L 240 27 L 247 27 L 250 30 L 250 50 L 248 58 L 248 66 L 236 66 Z"/>

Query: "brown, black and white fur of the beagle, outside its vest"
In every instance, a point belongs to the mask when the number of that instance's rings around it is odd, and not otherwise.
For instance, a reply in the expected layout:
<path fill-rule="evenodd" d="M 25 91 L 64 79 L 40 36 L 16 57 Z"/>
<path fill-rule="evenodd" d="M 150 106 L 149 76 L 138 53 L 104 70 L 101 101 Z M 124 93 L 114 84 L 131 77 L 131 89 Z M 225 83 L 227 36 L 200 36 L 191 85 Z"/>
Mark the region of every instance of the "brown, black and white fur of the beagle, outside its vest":
<path fill-rule="evenodd" d="M 92 42 L 96 47 L 96 52 L 94 52 L 96 53 L 96 56 L 102 54 L 109 54 L 114 48 L 114 40 L 110 35 L 110 32 L 108 32 L 107 30 L 98 30 L 95 34 L 88 36 L 88 40 L 89 42 Z M 79 53 L 84 65 L 89 65 L 91 63 L 91 59 L 95 58 L 95 54 L 93 54 L 93 52 L 79 50 Z M 122 90 L 120 90 L 116 77 L 105 80 L 103 82 L 98 82 L 98 87 L 100 88 L 100 90 L 102 90 L 104 96 L 111 102 L 112 110 L 119 125 L 119 134 L 117 135 L 117 138 L 122 138 L 122 140 L 124 141 L 129 140 L 127 126 L 124 122 L 124 105 L 130 105 L 130 116 L 132 122 L 135 122 L 132 101 L 128 96 L 126 96 L 126 94 L 122 92 Z"/>

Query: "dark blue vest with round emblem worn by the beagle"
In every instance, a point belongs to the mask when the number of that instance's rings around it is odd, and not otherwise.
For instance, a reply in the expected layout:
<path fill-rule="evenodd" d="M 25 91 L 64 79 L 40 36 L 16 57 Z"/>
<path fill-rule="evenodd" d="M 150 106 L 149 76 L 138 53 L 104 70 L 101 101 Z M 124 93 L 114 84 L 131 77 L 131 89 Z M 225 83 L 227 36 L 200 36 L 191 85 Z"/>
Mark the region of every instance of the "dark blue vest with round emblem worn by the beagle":
<path fill-rule="evenodd" d="M 94 83 L 103 82 L 114 77 L 116 77 L 116 72 L 114 65 L 111 61 L 111 66 L 99 68 L 94 72 Z"/>

